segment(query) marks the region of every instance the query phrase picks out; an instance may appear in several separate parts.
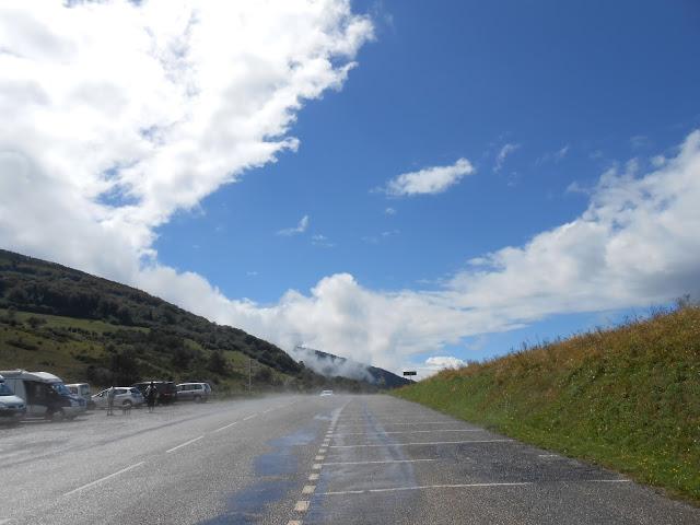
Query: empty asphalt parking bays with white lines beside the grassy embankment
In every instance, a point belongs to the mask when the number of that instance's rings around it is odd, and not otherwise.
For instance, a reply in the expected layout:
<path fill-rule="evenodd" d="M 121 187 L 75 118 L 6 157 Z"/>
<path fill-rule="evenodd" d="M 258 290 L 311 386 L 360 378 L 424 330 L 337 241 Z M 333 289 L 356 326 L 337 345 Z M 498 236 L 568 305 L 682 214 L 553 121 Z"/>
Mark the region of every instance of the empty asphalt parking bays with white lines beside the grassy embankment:
<path fill-rule="evenodd" d="M 616 472 L 387 396 L 349 401 L 319 453 L 291 525 L 700 523 Z"/>

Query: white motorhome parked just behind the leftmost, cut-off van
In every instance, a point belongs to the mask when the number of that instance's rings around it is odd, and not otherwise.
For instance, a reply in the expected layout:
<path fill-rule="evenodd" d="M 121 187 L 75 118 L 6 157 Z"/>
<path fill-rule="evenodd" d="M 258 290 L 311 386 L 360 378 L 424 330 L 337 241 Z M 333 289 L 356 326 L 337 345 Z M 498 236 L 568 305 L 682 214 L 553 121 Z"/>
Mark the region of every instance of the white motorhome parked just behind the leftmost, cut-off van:
<path fill-rule="evenodd" d="M 73 395 L 60 377 L 48 372 L 0 371 L 5 384 L 26 404 L 26 415 L 46 419 L 73 419 L 86 410 L 83 398 Z"/>

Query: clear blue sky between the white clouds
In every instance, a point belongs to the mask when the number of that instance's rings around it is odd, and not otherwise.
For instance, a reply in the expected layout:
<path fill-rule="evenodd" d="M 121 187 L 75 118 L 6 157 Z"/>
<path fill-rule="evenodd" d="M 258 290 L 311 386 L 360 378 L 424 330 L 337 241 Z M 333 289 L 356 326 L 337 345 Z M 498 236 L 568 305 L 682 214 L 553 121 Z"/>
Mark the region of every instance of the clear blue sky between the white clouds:
<path fill-rule="evenodd" d="M 612 163 L 663 152 L 700 124 L 693 2 L 353 7 L 371 13 L 376 40 L 342 91 L 300 112 L 299 151 L 159 230 L 161 260 L 261 303 L 340 271 L 372 289 L 432 288 L 472 257 L 576 218 L 587 197 L 568 192 L 572 183 L 592 186 Z M 508 143 L 518 148 L 494 172 Z M 444 194 L 371 191 L 462 156 L 477 173 Z M 304 234 L 276 235 L 304 215 Z M 459 355 L 600 324 L 557 316 Z"/>

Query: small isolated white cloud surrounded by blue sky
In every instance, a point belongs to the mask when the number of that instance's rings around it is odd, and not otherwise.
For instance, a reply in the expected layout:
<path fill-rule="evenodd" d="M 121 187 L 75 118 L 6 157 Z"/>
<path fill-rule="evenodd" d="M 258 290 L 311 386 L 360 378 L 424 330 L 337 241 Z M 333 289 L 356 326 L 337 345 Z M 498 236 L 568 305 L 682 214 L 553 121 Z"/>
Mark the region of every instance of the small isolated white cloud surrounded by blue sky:
<path fill-rule="evenodd" d="M 450 166 L 425 167 L 418 172 L 398 175 L 386 184 L 383 191 L 395 197 L 441 194 L 457 184 L 465 175 L 471 175 L 474 172 L 469 161 L 458 159 Z"/>

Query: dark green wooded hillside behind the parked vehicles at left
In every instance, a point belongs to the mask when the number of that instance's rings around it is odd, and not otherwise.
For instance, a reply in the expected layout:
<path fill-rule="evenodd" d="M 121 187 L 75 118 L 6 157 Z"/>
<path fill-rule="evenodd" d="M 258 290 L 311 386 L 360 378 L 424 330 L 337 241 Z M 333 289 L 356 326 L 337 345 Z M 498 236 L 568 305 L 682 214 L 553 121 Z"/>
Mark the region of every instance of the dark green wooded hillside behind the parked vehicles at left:
<path fill-rule="evenodd" d="M 0 250 L 0 370 L 11 368 L 95 386 L 172 377 L 241 392 L 252 376 L 256 390 L 374 389 L 322 377 L 275 345 L 140 290 Z"/>

